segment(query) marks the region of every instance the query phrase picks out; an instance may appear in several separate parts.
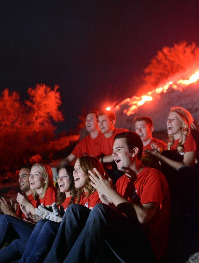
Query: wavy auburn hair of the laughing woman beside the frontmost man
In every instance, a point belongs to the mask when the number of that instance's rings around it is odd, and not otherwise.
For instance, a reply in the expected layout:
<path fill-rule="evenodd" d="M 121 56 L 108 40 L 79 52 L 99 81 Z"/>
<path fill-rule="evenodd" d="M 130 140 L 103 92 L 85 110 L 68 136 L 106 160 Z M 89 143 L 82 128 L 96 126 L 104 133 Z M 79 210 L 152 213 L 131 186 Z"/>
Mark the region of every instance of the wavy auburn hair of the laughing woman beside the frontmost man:
<path fill-rule="evenodd" d="M 84 185 L 85 185 L 86 192 L 87 192 L 86 197 L 88 197 L 89 195 L 91 195 L 92 193 L 96 191 L 96 189 L 93 186 L 91 186 L 91 183 L 90 183 L 91 180 L 89 178 L 88 171 L 90 170 L 91 172 L 95 174 L 95 171 L 93 168 L 96 168 L 103 177 L 107 178 L 108 176 L 105 173 L 105 170 L 101 162 L 93 156 L 84 155 L 84 156 L 79 157 L 79 164 L 82 170 L 84 171 L 84 173 L 87 175 Z M 82 195 L 83 196 L 85 195 L 84 189 L 76 188 L 76 197 L 77 197 L 76 202 L 75 202 L 76 204 L 79 204 Z"/>

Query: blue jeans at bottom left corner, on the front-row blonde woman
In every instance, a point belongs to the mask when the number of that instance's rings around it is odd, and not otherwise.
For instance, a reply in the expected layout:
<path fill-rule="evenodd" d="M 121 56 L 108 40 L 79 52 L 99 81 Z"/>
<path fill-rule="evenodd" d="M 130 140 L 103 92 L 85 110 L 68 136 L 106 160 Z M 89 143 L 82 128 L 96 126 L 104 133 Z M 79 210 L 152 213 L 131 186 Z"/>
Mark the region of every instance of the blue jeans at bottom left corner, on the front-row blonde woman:
<path fill-rule="evenodd" d="M 7 214 L 0 216 L 0 248 L 6 243 L 8 237 L 15 239 L 6 248 L 0 250 L 1 263 L 21 258 L 33 229 L 34 225 L 16 217 Z"/>

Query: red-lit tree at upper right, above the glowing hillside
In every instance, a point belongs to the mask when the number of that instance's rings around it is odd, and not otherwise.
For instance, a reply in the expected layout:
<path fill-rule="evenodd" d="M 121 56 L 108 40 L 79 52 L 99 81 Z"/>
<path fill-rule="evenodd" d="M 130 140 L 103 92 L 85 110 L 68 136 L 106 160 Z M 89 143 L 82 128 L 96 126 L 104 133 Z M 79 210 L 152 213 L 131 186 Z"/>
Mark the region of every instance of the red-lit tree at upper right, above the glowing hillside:
<path fill-rule="evenodd" d="M 185 70 L 193 63 L 199 63 L 199 47 L 186 42 L 175 44 L 173 47 L 164 47 L 150 61 L 145 68 L 146 82 L 156 86 L 162 80 L 168 79 L 177 72 Z"/>

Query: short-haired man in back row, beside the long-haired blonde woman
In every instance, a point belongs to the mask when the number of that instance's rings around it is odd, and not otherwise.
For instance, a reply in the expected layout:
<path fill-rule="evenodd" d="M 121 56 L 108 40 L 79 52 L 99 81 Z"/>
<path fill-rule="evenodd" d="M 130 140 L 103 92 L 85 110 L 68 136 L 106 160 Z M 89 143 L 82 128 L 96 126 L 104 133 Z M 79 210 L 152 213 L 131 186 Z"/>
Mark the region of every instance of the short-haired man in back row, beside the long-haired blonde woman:
<path fill-rule="evenodd" d="M 167 150 L 166 143 L 152 137 L 153 131 L 153 120 L 150 117 L 135 117 L 135 132 L 143 142 L 143 151 L 146 149 L 152 150 L 152 143 L 155 144 L 160 151 Z"/>

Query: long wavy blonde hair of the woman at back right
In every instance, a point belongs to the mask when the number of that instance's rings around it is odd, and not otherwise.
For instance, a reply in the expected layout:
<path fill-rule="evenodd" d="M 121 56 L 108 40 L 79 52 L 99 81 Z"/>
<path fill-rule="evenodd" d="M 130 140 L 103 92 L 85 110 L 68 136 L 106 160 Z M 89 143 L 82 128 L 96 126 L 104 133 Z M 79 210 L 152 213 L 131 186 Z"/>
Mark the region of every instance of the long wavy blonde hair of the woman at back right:
<path fill-rule="evenodd" d="M 181 137 L 177 145 L 177 150 L 178 153 L 183 153 L 184 152 L 183 146 L 187 136 L 190 134 L 190 126 L 191 123 L 193 122 L 193 117 L 191 116 L 191 113 L 188 110 L 185 110 L 184 108 L 181 107 L 172 107 L 170 113 L 171 112 L 175 112 L 179 117 L 179 120 L 181 120 L 182 122 L 182 129 L 180 131 Z M 168 146 L 168 150 L 171 150 L 171 146 L 174 144 L 174 136 L 169 135 L 169 139 L 170 141 L 167 143 L 167 146 Z"/>

